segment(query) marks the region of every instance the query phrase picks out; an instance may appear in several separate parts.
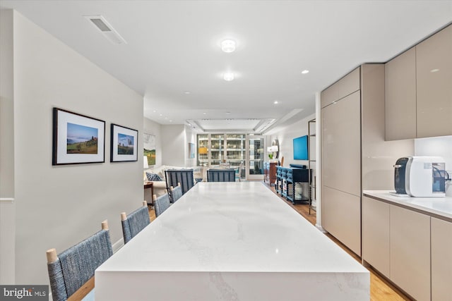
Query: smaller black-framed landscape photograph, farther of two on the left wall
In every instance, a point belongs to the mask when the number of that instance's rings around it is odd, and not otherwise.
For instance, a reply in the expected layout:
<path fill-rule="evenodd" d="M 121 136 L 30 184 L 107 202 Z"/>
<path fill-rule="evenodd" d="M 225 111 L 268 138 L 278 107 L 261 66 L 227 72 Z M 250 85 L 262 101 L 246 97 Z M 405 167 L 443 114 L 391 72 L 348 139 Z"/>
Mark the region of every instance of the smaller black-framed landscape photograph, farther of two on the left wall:
<path fill-rule="evenodd" d="M 112 123 L 110 162 L 138 161 L 138 130 Z"/>

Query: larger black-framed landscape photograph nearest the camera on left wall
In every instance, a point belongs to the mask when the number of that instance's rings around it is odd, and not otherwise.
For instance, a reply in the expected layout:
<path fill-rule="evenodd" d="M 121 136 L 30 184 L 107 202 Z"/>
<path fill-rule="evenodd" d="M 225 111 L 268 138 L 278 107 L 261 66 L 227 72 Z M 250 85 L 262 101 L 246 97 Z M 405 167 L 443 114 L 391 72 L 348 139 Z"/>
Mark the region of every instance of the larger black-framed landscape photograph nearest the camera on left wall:
<path fill-rule="evenodd" d="M 54 108 L 52 165 L 105 162 L 105 121 Z"/>

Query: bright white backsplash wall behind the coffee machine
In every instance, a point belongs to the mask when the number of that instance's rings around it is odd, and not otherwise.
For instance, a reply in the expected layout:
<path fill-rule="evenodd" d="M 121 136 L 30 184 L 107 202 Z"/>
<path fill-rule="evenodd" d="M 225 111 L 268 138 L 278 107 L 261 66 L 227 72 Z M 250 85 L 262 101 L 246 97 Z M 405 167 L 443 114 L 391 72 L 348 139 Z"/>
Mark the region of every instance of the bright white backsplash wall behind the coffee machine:
<path fill-rule="evenodd" d="M 415 156 L 442 156 L 452 177 L 452 136 L 415 139 Z M 446 186 L 446 195 L 452 197 L 451 181 Z"/>

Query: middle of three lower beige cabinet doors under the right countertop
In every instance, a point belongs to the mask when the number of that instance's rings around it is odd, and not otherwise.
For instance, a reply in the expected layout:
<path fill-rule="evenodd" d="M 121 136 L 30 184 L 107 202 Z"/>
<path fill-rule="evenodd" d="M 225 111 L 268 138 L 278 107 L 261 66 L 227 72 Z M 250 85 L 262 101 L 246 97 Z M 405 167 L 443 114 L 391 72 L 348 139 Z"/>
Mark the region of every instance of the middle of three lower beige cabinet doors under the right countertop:
<path fill-rule="evenodd" d="M 390 206 L 390 279 L 416 300 L 430 300 L 430 216 Z"/>

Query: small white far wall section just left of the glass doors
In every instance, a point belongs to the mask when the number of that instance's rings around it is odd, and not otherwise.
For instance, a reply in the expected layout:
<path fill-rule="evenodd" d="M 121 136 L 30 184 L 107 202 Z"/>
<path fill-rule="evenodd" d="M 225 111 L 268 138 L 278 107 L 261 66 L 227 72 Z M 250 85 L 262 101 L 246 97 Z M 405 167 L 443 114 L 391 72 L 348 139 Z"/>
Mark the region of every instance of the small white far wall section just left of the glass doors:
<path fill-rule="evenodd" d="M 162 125 L 162 165 L 185 166 L 186 135 L 185 126 Z"/>

